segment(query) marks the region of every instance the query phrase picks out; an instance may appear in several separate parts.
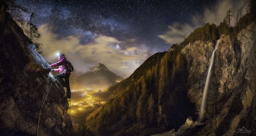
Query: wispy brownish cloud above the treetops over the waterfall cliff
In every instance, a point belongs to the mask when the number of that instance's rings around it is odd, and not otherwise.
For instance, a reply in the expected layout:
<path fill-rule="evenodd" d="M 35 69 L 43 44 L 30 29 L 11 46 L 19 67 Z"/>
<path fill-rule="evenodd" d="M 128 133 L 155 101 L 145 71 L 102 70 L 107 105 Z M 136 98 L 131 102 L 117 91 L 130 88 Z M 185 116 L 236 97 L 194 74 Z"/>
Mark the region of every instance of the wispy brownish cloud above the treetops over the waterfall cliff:
<path fill-rule="evenodd" d="M 205 25 L 207 22 L 215 23 L 219 25 L 226 16 L 227 10 L 232 8 L 236 11 L 237 8 L 247 6 L 248 0 L 220 0 L 211 9 L 205 8 L 202 14 L 192 15 L 190 23 L 180 24 L 179 22 L 174 22 L 168 26 L 168 31 L 159 35 L 166 43 L 175 44 L 182 42 L 189 34 L 197 27 Z M 231 22 L 234 25 L 234 19 Z"/>

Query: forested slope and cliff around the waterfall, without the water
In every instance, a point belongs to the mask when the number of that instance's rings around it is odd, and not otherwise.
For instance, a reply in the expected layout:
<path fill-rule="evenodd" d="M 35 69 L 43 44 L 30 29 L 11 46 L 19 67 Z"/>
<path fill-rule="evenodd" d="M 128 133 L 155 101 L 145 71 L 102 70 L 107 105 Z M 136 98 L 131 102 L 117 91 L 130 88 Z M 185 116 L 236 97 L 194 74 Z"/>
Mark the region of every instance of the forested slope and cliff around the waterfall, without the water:
<path fill-rule="evenodd" d="M 148 136 L 168 130 L 156 136 L 233 136 L 239 135 L 238 128 L 253 130 L 254 17 L 251 10 L 234 27 L 225 20 L 219 26 L 206 24 L 168 52 L 151 56 L 129 78 L 110 88 L 114 97 L 90 114 L 85 125 L 102 136 Z M 206 124 L 196 125 L 217 39 L 220 43 L 212 66 Z M 187 122 L 188 117 L 192 122 Z"/>

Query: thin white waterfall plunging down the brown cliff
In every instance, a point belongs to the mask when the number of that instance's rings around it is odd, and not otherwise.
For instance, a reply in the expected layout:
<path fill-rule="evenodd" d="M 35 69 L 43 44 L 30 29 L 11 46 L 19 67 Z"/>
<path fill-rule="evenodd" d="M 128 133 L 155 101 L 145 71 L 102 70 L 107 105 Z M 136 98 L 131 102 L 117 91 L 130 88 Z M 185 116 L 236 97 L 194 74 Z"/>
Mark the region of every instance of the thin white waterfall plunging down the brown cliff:
<path fill-rule="evenodd" d="M 206 83 L 205 83 L 205 86 L 204 86 L 204 94 L 203 94 L 203 98 L 202 98 L 202 103 L 201 103 L 201 108 L 200 108 L 200 115 L 199 115 L 198 121 L 202 121 L 204 119 L 207 93 L 208 93 L 208 88 L 209 88 L 209 83 L 210 83 L 210 78 L 211 78 L 212 64 L 213 64 L 213 60 L 214 60 L 214 53 L 218 48 L 219 42 L 220 42 L 220 40 L 217 40 L 215 50 L 213 50 L 211 59 L 209 61 L 208 74 L 207 74 Z"/>

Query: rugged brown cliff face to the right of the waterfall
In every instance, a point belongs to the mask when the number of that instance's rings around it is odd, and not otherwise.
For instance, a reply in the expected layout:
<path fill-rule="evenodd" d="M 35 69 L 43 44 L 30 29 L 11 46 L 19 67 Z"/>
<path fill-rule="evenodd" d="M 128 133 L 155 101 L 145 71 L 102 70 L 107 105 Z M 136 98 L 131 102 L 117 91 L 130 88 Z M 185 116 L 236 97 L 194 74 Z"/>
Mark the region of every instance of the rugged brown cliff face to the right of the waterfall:
<path fill-rule="evenodd" d="M 208 122 L 196 135 L 214 135 L 215 123 L 211 117 L 215 102 L 218 135 L 239 135 L 235 130 L 256 127 L 256 23 L 253 22 L 242 30 L 234 42 L 229 36 L 222 35 L 216 51 L 212 80 L 208 99 Z M 200 64 L 199 64 L 200 65 Z M 193 69 L 194 70 L 194 69 Z M 193 80 L 191 78 L 191 80 Z M 200 86 L 194 83 L 195 86 Z M 195 89 L 188 94 L 197 96 Z M 211 95 L 212 94 L 212 95 Z M 191 96 L 191 95 L 189 95 Z M 190 97 L 196 105 L 196 97 Z M 251 133 L 256 135 L 255 131 Z"/>

